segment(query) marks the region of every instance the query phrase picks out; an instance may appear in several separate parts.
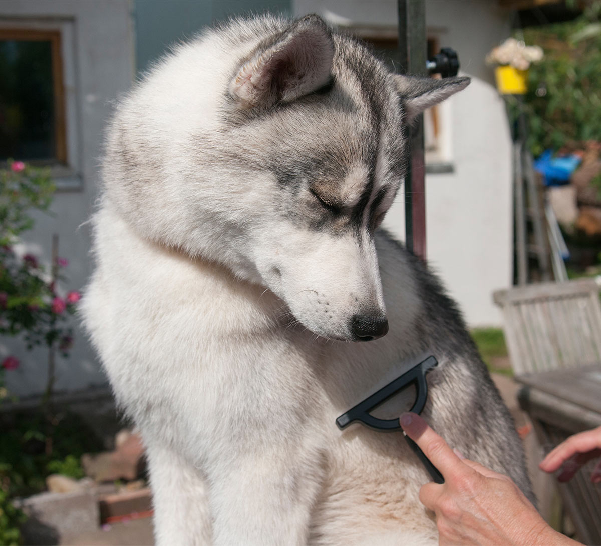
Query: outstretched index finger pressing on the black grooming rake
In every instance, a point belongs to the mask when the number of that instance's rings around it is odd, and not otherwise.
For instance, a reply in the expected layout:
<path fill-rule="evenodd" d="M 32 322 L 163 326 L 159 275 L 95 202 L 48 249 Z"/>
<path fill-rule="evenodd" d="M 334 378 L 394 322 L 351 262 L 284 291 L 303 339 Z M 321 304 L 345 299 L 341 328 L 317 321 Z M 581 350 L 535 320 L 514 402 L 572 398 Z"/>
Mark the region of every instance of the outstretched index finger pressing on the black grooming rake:
<path fill-rule="evenodd" d="M 432 430 L 416 413 L 403 413 L 400 424 L 405 434 L 424 452 L 446 479 L 447 473 L 463 472 L 465 465 L 442 437 Z"/>

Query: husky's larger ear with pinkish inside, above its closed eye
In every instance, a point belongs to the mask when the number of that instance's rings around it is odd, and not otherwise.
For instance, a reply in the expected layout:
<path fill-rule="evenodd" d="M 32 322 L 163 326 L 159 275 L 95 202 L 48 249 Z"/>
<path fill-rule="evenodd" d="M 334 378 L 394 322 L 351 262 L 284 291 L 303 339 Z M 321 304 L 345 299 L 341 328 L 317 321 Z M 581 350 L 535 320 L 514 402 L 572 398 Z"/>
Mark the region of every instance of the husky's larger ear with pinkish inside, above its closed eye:
<path fill-rule="evenodd" d="M 334 41 L 322 19 L 297 21 L 275 44 L 261 47 L 230 82 L 230 95 L 244 109 L 291 102 L 330 81 Z"/>

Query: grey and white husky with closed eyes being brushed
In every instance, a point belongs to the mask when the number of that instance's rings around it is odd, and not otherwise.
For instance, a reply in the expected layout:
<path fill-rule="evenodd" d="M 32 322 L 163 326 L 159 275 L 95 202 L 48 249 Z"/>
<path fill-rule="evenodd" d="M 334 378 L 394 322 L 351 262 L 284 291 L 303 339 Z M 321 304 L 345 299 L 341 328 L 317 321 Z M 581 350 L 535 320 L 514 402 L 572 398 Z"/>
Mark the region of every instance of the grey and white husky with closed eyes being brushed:
<path fill-rule="evenodd" d="M 468 83 L 263 17 L 178 47 L 118 106 L 83 313 L 147 448 L 157 544 L 437 544 L 402 434 L 335 425 L 423 353 L 427 421 L 531 496 L 456 307 L 378 230 L 404 128 Z"/>

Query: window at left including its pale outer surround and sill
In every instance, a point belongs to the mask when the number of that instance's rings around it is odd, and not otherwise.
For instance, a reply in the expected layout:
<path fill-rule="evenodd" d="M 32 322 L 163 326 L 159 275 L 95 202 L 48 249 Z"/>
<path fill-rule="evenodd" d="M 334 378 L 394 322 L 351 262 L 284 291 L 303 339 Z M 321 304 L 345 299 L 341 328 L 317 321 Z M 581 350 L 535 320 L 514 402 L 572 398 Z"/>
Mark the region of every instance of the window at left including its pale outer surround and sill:
<path fill-rule="evenodd" d="M 50 166 L 60 191 L 82 189 L 75 21 L 0 17 L 0 164 Z"/>

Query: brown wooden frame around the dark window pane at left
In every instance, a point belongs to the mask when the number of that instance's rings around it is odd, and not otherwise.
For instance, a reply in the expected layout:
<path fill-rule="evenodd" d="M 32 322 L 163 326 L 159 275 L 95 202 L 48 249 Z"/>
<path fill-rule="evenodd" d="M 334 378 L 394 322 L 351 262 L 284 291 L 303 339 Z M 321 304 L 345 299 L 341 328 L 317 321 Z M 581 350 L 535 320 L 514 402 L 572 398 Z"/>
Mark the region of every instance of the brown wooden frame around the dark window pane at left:
<path fill-rule="evenodd" d="M 54 100 L 55 160 L 67 164 L 67 134 L 61 32 L 20 28 L 0 28 L 0 41 L 49 41 L 52 58 Z"/>

